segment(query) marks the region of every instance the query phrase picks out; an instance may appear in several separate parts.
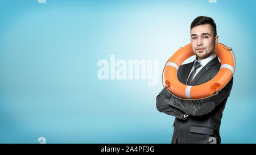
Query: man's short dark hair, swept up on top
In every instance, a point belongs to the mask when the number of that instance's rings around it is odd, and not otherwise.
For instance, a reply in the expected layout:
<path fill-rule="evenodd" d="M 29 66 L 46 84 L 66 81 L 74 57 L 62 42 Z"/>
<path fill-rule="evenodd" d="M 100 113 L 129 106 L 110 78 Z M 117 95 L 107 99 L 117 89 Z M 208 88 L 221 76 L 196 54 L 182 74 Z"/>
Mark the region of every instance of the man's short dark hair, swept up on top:
<path fill-rule="evenodd" d="M 216 24 L 215 24 L 214 20 L 208 16 L 197 16 L 197 18 L 194 19 L 193 22 L 191 23 L 190 30 L 193 27 L 203 25 L 203 24 L 210 24 L 212 26 L 213 35 L 214 35 L 214 37 L 216 37 L 216 35 L 217 35 Z"/>

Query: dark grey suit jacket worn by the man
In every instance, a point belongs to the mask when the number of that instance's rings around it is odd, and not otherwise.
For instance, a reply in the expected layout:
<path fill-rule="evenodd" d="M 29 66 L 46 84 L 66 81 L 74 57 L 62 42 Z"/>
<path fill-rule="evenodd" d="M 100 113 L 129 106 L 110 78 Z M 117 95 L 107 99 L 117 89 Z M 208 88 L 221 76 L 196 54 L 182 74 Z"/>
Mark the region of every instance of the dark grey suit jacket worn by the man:
<path fill-rule="evenodd" d="M 181 65 L 177 78 L 186 83 L 193 62 Z M 200 85 L 212 79 L 220 70 L 218 58 L 214 58 L 197 73 L 192 85 Z M 160 112 L 175 116 L 172 143 L 211 143 L 210 139 L 221 142 L 220 124 L 222 112 L 233 85 L 233 78 L 218 95 L 200 100 L 181 100 L 163 89 L 156 97 L 156 108 Z M 189 116 L 183 119 L 184 114 Z M 210 138 L 211 137 L 211 138 Z"/>

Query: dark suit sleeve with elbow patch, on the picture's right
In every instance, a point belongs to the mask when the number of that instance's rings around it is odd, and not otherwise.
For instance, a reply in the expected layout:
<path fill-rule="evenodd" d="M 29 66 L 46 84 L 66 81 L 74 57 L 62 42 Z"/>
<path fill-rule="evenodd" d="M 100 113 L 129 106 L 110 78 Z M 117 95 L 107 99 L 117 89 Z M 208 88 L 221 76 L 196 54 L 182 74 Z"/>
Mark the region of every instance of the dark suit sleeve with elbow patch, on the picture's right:
<path fill-rule="evenodd" d="M 200 99 L 200 100 L 182 100 L 174 96 L 171 97 L 170 106 L 178 108 L 179 110 L 185 112 L 188 115 L 202 116 L 211 112 L 215 107 L 218 106 L 223 100 L 229 97 L 230 91 L 233 85 L 233 77 L 230 79 L 228 85 L 226 85 L 218 95 L 213 97 Z"/>

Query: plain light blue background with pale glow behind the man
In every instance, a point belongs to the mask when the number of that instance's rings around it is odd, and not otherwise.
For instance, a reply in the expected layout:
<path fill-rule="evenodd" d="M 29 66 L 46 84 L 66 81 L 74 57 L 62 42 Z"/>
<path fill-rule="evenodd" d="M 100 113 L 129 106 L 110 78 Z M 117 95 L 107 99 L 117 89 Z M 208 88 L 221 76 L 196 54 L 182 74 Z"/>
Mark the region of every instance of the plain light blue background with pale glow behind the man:
<path fill-rule="evenodd" d="M 212 17 L 237 70 L 222 143 L 256 142 L 255 1 L 0 1 L 0 143 L 171 143 L 156 110 L 167 59 Z M 99 80 L 97 62 L 159 60 L 159 82 Z"/>

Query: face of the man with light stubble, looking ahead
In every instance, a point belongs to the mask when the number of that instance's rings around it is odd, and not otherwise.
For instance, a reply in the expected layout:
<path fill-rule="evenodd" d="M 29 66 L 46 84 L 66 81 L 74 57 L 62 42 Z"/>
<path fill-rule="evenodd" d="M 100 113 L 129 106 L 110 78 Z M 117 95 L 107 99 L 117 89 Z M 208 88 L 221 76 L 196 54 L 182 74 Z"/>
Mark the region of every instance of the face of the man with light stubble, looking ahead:
<path fill-rule="evenodd" d="M 214 55 L 214 47 L 217 43 L 218 36 L 214 37 L 210 24 L 199 25 L 191 29 L 191 46 L 198 61 Z"/>

